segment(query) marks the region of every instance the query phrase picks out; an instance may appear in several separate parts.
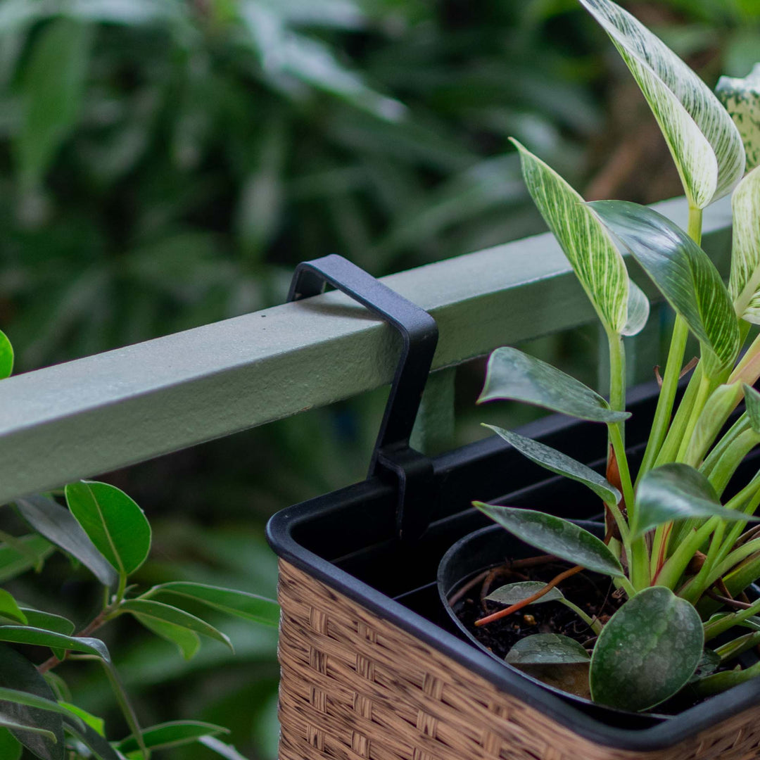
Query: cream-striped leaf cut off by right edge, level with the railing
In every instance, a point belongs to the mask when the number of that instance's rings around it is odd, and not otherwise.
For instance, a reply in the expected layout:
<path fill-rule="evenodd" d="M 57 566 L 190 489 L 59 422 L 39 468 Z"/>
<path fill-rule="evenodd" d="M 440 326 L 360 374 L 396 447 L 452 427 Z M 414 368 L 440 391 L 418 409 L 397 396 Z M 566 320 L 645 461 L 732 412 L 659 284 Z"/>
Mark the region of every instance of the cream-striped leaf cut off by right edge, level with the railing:
<path fill-rule="evenodd" d="M 731 198 L 733 248 L 728 292 L 739 317 L 760 325 L 760 166 Z"/>

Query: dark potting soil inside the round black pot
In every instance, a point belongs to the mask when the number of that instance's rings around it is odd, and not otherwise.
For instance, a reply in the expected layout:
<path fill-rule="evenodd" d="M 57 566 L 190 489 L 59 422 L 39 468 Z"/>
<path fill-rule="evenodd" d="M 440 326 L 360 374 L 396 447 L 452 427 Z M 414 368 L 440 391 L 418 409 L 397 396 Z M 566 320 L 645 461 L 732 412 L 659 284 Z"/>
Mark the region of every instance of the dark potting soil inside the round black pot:
<path fill-rule="evenodd" d="M 566 562 L 556 561 L 534 568 L 510 569 L 509 565 L 503 565 L 497 575 L 486 578 L 467 591 L 467 594 L 454 605 L 454 612 L 477 641 L 500 659 L 506 657 L 508 651 L 521 638 L 535 633 L 559 633 L 574 638 L 580 644 L 588 644 L 591 648 L 596 638 L 594 632 L 578 615 L 560 602 L 530 604 L 500 620 L 482 626 L 474 625 L 476 620 L 505 608 L 505 605 L 498 602 L 484 600 L 492 591 L 518 581 L 547 582 L 568 567 Z M 604 620 L 622 603 L 619 595 L 615 594 L 615 587 L 609 578 L 585 570 L 565 578 L 559 584 L 559 591 L 591 618 L 599 617 Z"/>

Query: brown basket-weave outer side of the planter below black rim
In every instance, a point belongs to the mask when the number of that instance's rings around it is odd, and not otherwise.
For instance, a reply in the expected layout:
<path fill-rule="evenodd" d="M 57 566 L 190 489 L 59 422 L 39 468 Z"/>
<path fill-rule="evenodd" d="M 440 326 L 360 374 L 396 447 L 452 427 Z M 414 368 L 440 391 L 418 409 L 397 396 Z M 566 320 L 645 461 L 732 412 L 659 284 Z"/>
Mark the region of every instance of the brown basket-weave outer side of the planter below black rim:
<path fill-rule="evenodd" d="M 578 736 L 280 560 L 280 760 L 756 760 L 760 708 L 658 752 Z"/>

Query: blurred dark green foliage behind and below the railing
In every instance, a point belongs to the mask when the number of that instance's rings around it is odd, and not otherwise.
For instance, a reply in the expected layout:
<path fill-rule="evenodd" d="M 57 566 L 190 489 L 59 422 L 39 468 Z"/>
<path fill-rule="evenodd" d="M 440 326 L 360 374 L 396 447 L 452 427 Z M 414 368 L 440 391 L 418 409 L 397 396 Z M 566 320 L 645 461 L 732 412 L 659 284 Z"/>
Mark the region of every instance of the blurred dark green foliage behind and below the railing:
<path fill-rule="evenodd" d="M 709 84 L 757 58 L 758 0 L 627 7 Z M 0 326 L 17 368 L 281 302 L 293 264 L 328 252 L 385 274 L 540 230 L 508 135 L 587 197 L 679 192 L 635 84 L 573 0 L 2 0 Z M 273 593 L 260 521 L 362 477 L 381 405 L 113 473 L 158 515 L 143 580 Z M 48 572 L 62 606 L 81 598 Z M 131 629 L 112 646 L 150 722 L 171 705 L 273 758 L 274 640 L 230 635 L 236 660 L 212 644 L 189 671 Z M 79 688 L 105 698 L 95 679 Z"/>

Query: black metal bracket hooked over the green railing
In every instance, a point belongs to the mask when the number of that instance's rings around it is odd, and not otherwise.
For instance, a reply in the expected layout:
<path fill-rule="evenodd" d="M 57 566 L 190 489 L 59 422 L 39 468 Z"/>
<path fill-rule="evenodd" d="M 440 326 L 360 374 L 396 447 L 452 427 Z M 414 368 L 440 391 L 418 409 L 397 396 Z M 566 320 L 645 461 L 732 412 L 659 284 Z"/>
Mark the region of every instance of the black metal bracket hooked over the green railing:
<path fill-rule="evenodd" d="M 415 540 L 426 530 L 432 515 L 433 473 L 429 458 L 410 448 L 409 439 L 438 343 L 438 327 L 424 309 L 334 254 L 303 261 L 296 267 L 288 301 L 317 296 L 325 290 L 326 283 L 366 306 L 401 334 L 401 358 L 368 477 L 396 483 L 397 533 L 403 540 Z"/>

